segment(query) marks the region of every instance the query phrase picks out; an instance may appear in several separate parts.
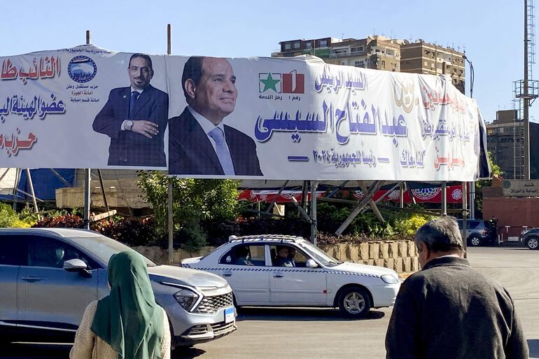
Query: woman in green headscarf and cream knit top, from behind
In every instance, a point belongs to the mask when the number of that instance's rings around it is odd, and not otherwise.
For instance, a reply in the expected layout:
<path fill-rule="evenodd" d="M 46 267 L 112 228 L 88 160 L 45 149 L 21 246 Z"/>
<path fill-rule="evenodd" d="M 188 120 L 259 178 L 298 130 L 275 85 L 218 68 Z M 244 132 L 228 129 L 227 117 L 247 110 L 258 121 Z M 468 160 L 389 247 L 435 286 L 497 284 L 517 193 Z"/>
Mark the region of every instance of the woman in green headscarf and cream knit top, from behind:
<path fill-rule="evenodd" d="M 146 263 L 135 251 L 111 257 L 111 293 L 88 304 L 71 359 L 169 359 L 167 314 L 157 303 Z"/>

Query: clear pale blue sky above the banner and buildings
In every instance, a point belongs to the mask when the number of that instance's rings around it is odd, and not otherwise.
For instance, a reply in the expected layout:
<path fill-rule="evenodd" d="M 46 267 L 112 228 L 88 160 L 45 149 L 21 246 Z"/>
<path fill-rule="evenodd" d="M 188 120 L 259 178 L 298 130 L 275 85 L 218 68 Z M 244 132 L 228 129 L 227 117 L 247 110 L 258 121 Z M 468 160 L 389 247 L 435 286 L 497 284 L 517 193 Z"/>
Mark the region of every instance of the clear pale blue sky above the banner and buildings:
<path fill-rule="evenodd" d="M 173 55 L 270 56 L 279 41 L 325 36 L 423 38 L 465 48 L 487 121 L 512 108 L 512 81 L 524 78 L 523 0 L 18 0 L 2 1 L 1 12 L 0 56 L 80 45 L 87 29 L 102 48 L 166 53 L 167 24 Z M 539 121 L 539 101 L 531 116 Z"/>

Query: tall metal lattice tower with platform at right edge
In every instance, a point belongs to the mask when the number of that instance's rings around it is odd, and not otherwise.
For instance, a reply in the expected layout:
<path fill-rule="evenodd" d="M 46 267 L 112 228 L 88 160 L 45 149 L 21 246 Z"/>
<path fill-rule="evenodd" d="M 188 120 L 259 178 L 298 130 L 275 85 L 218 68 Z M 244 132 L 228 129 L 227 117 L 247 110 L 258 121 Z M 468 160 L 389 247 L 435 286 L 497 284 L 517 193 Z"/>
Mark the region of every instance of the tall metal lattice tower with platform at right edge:
<path fill-rule="evenodd" d="M 524 0 L 524 80 L 514 82 L 514 106 L 517 109 L 513 139 L 514 178 L 530 179 L 529 108 L 538 97 L 539 89 L 538 81 L 533 80 L 532 76 L 533 64 L 535 64 L 535 6 L 533 0 Z"/>

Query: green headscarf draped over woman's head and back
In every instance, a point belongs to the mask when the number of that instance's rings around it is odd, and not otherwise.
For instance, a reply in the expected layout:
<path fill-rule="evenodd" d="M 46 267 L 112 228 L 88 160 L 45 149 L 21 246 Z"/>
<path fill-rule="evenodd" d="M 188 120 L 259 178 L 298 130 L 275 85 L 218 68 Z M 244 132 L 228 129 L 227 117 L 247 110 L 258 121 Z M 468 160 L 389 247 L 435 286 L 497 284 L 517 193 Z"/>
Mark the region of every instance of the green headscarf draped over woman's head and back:
<path fill-rule="evenodd" d="M 135 251 L 117 253 L 107 271 L 111 293 L 97 303 L 92 332 L 118 351 L 118 359 L 162 358 L 165 318 L 144 258 Z"/>

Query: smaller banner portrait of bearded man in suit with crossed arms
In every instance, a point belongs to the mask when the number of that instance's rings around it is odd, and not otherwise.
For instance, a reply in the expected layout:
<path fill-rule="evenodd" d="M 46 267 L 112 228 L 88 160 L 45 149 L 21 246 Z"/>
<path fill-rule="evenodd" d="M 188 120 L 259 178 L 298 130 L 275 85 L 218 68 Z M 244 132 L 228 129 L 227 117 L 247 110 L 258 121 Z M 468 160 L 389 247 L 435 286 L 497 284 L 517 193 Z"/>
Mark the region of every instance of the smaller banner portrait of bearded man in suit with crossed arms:
<path fill-rule="evenodd" d="M 92 127 L 111 139 L 109 165 L 166 167 L 169 96 L 150 85 L 153 67 L 148 55 L 132 55 L 127 74 L 130 87 L 111 90 Z"/>

